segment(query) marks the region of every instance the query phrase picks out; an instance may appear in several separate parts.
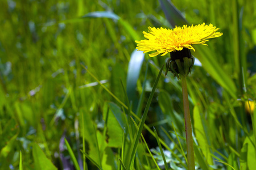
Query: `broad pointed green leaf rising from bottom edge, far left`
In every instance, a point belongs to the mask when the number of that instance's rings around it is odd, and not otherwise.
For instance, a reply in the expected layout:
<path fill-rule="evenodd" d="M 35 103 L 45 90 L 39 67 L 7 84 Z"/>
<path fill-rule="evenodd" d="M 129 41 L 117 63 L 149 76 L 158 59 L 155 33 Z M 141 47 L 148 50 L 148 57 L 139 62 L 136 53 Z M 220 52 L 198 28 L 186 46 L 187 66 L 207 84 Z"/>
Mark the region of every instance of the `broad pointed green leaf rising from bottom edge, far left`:
<path fill-rule="evenodd" d="M 35 170 L 54 170 L 57 169 L 49 160 L 42 149 L 36 144 L 33 144 L 33 158 L 34 158 L 34 165 L 35 165 Z"/>

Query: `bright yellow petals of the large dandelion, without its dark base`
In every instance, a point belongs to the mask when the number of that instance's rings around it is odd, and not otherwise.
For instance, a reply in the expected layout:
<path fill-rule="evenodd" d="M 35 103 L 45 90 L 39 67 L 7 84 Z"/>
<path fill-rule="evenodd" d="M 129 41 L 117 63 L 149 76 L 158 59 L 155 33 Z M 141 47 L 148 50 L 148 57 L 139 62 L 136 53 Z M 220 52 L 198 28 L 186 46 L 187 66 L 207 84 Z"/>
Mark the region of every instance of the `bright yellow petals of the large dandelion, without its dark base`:
<path fill-rule="evenodd" d="M 192 49 L 193 44 L 205 44 L 207 39 L 220 37 L 223 35 L 218 31 L 219 28 L 213 27 L 212 24 L 199 24 L 195 26 L 183 25 L 183 27 L 175 27 L 172 29 L 166 28 L 151 28 L 148 27 L 148 33 L 143 31 L 144 37 L 147 40 L 135 41 L 137 42 L 137 49 L 143 53 L 154 52 L 149 54 L 150 57 L 155 57 L 158 54 L 161 56 L 170 52 L 183 50 L 183 48 Z"/>

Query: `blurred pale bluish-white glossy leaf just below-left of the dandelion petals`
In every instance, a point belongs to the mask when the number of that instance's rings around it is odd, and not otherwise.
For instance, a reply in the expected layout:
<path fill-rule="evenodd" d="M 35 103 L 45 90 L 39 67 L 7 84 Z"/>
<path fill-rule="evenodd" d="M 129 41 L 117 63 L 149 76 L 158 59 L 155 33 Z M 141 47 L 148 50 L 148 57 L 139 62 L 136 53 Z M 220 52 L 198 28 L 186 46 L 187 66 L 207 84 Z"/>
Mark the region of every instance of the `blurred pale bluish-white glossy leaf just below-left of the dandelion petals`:
<path fill-rule="evenodd" d="M 128 66 L 127 72 L 127 85 L 126 91 L 129 100 L 135 99 L 137 80 L 139 73 L 141 73 L 141 66 L 144 61 L 144 53 L 141 51 L 134 50 L 131 54 L 131 59 Z"/>

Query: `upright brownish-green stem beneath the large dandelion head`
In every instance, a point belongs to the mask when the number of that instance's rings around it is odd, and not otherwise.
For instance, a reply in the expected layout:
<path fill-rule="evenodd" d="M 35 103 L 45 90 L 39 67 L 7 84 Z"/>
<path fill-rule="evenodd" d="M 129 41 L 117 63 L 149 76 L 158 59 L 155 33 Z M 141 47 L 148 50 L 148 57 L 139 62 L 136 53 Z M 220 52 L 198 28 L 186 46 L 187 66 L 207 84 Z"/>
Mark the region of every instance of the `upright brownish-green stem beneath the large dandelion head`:
<path fill-rule="evenodd" d="M 193 148 L 193 137 L 192 137 L 192 125 L 188 105 L 188 90 L 187 81 L 184 75 L 181 75 L 182 82 L 182 95 L 183 95 L 183 108 L 185 118 L 185 130 L 186 130 L 186 141 L 187 141 L 187 158 L 188 158 L 188 170 L 195 170 L 195 158 Z"/>

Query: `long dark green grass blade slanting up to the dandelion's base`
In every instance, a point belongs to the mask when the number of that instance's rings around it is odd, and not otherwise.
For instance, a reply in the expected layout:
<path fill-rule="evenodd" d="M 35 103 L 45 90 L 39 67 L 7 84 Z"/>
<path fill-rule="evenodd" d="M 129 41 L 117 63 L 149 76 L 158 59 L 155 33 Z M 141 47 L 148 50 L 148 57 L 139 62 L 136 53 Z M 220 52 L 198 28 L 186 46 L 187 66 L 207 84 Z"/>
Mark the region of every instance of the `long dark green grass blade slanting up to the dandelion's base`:
<path fill-rule="evenodd" d="M 148 109 L 150 108 L 150 104 L 151 104 L 151 101 L 152 101 L 152 98 L 154 96 L 154 93 L 155 93 L 155 90 L 156 90 L 156 86 L 158 84 L 158 81 L 160 79 L 160 76 L 162 74 L 162 71 L 163 71 L 163 66 L 162 68 L 160 69 L 159 71 L 159 74 L 158 74 L 158 77 L 156 78 L 155 80 L 155 83 L 154 83 L 154 86 L 152 88 L 152 91 L 150 93 L 150 96 L 148 97 L 148 100 L 147 100 L 147 105 L 146 105 L 146 108 L 144 110 L 144 113 L 143 113 L 143 116 L 142 116 L 142 119 L 141 119 L 141 122 L 139 122 L 139 130 L 137 132 L 137 135 L 135 137 L 135 140 L 133 141 L 133 145 L 131 147 L 131 154 L 130 154 L 130 158 L 129 158 L 129 161 L 128 161 L 128 168 L 131 169 L 131 165 L 133 164 L 133 159 L 135 158 L 135 154 L 136 154 L 136 150 L 137 150 L 137 146 L 138 146 L 138 142 L 139 142 L 139 138 L 141 137 L 141 132 L 142 132 L 142 129 L 143 129 L 143 126 L 144 126 L 144 122 L 146 121 L 146 117 L 147 117 L 147 113 L 148 113 Z"/>

